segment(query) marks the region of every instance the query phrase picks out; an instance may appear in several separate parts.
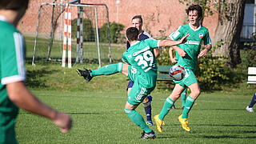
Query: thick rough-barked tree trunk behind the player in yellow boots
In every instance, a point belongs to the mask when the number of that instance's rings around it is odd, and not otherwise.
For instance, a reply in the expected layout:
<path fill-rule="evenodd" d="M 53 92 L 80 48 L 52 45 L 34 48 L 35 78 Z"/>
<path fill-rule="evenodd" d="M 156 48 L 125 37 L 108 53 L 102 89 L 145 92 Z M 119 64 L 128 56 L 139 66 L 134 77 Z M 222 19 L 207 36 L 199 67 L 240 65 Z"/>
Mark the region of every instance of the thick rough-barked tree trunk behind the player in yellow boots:
<path fill-rule="evenodd" d="M 214 55 L 229 58 L 227 64 L 234 67 L 241 63 L 240 34 L 246 0 L 220 0 L 218 26 L 215 31 Z"/>

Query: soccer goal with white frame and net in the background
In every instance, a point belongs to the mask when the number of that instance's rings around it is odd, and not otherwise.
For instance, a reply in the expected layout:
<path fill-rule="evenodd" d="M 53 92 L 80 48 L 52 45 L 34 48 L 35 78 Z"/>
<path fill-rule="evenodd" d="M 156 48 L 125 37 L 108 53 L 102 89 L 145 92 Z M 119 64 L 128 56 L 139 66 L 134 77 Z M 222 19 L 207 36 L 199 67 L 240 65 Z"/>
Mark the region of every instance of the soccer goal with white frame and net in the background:
<path fill-rule="evenodd" d="M 66 8 L 70 8 L 70 26 L 65 24 Z M 99 32 L 106 24 L 107 41 Z M 65 42 L 70 47 L 64 50 Z M 66 50 L 70 50 L 68 55 L 72 64 L 98 62 L 98 66 L 102 66 L 102 62 L 112 62 L 109 13 L 105 4 L 42 3 L 39 6 L 32 65 L 66 61 Z"/>

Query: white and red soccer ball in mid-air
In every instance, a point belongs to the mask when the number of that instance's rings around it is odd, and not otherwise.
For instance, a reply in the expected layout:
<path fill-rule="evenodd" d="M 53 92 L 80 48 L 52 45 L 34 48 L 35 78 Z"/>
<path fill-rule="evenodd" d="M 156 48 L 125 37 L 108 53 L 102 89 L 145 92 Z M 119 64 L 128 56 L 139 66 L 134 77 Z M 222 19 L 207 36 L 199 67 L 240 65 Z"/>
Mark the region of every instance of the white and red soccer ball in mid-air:
<path fill-rule="evenodd" d="M 175 81 L 182 80 L 185 74 L 186 74 L 186 71 L 182 66 L 174 65 L 170 67 L 170 70 L 169 70 L 170 78 L 173 78 Z"/>

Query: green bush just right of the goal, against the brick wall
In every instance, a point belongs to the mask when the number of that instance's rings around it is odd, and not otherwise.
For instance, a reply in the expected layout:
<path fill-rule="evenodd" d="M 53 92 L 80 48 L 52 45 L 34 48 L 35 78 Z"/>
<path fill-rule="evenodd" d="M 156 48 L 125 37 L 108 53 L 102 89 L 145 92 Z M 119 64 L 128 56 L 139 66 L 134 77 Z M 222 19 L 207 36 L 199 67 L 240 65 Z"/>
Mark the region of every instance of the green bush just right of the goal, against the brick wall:
<path fill-rule="evenodd" d="M 102 28 L 99 30 L 100 34 L 100 40 L 101 42 L 108 42 L 107 40 L 107 31 L 108 25 L 105 23 Z M 122 37 L 122 34 L 120 33 L 125 26 L 122 24 L 116 23 L 116 22 L 110 22 L 110 42 L 117 43 L 118 39 Z"/>

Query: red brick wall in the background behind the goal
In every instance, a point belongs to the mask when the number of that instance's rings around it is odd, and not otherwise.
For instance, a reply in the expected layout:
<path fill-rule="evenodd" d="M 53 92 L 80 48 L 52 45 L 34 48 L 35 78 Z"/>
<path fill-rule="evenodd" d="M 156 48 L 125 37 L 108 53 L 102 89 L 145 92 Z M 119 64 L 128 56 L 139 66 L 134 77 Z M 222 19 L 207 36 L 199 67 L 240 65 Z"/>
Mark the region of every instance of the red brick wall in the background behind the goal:
<path fill-rule="evenodd" d="M 61 0 L 58 0 L 59 2 Z M 178 0 L 82 0 L 84 3 L 104 3 L 109 8 L 110 22 L 119 22 L 129 27 L 131 18 L 135 14 L 141 14 L 143 29 L 153 36 L 169 35 L 178 26 L 186 22 L 186 6 Z M 22 18 L 18 28 L 25 34 L 34 34 L 38 18 L 38 6 L 42 2 L 53 2 L 52 0 L 30 0 L 30 6 L 26 15 Z M 63 0 L 66 2 L 66 0 Z M 210 36 L 214 37 L 217 27 L 218 15 L 206 17 L 203 25 L 210 30 Z M 159 31 L 162 31 L 159 32 Z"/>

